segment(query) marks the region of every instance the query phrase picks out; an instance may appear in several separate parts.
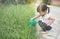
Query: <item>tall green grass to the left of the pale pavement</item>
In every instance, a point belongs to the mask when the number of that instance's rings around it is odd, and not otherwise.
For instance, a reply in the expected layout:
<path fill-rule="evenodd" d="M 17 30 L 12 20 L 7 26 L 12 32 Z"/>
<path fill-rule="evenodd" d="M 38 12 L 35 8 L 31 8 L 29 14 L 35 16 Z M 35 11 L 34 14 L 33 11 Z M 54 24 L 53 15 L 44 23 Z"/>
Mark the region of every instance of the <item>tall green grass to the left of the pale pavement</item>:
<path fill-rule="evenodd" d="M 28 4 L 0 6 L 0 39 L 37 39 L 35 27 L 27 28 L 34 13 Z"/>

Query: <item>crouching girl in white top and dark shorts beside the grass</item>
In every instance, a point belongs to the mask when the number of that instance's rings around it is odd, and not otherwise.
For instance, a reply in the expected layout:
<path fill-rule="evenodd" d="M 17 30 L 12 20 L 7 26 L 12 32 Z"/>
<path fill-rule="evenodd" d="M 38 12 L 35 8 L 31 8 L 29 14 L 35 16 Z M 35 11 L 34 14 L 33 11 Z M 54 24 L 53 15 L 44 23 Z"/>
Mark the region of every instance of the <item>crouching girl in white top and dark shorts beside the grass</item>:
<path fill-rule="evenodd" d="M 42 28 L 42 33 L 47 33 L 46 31 L 50 31 L 52 29 L 50 25 L 55 21 L 55 19 L 50 17 L 50 9 L 46 4 L 39 5 L 37 7 L 37 12 L 39 13 L 39 15 L 33 17 L 33 19 L 37 19 L 38 17 L 40 17 L 38 24 Z"/>

